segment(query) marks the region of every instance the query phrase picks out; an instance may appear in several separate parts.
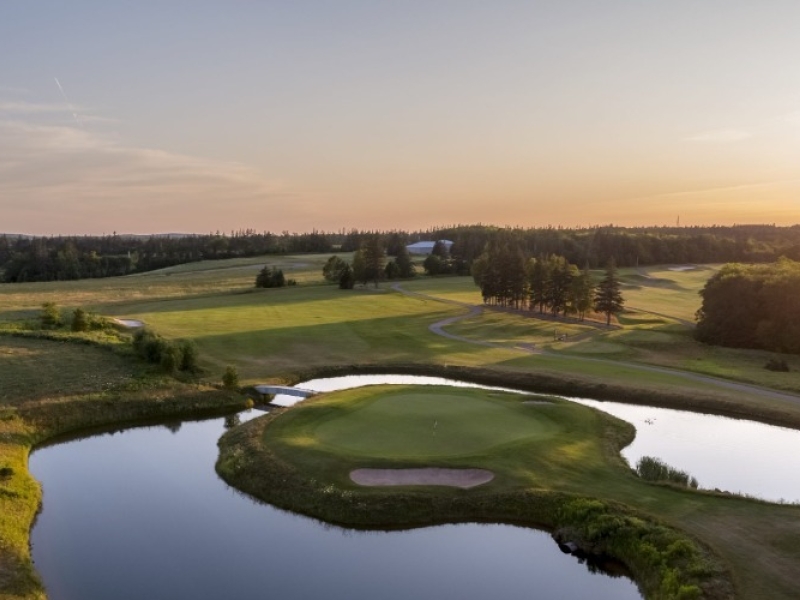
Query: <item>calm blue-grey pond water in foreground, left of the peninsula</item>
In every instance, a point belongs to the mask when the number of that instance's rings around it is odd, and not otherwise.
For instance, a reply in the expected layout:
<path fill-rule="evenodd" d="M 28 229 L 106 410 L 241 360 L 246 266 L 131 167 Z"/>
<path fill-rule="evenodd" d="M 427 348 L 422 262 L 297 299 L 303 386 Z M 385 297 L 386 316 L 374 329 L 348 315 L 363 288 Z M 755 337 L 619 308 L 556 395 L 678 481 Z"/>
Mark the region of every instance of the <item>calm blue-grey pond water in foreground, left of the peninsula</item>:
<path fill-rule="evenodd" d="M 37 450 L 44 506 L 31 544 L 49 598 L 641 598 L 536 530 L 357 532 L 256 503 L 214 472 L 223 432 L 219 418 Z"/>

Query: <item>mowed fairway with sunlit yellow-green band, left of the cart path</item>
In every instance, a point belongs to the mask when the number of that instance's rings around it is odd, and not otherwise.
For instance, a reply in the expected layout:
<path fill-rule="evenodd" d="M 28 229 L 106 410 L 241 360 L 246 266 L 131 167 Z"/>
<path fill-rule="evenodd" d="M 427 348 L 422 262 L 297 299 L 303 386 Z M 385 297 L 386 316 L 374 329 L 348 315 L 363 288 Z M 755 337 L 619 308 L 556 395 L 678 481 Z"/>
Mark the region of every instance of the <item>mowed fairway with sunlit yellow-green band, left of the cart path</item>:
<path fill-rule="evenodd" d="M 483 364 L 515 356 L 428 331 L 432 323 L 463 312 L 385 288 L 309 286 L 165 300 L 131 315 L 167 337 L 193 339 L 212 372 L 234 364 L 243 381 L 256 383 L 332 365 Z"/>

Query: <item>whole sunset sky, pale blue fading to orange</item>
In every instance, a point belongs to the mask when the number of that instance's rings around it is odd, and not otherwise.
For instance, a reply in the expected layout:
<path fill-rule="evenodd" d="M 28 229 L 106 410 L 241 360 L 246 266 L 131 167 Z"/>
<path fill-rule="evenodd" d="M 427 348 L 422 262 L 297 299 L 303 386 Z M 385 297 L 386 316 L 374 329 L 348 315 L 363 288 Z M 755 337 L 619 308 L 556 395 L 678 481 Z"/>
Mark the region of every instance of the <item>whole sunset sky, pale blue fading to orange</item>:
<path fill-rule="evenodd" d="M 797 0 L 0 2 L 0 232 L 800 223 Z"/>

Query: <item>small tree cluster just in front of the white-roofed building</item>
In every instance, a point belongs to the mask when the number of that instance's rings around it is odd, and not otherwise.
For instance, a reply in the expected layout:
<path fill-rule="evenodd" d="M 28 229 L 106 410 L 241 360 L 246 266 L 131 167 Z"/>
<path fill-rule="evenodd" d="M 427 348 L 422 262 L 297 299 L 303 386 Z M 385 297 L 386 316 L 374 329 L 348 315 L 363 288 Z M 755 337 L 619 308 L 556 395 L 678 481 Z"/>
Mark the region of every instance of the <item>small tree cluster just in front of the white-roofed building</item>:
<path fill-rule="evenodd" d="M 380 235 L 364 238 L 353 253 L 353 262 L 348 263 L 339 256 L 331 256 L 322 268 L 322 276 L 341 289 L 353 289 L 356 283 L 367 285 L 384 279 L 408 279 L 416 276 L 416 269 L 405 246 L 397 248 L 394 259 L 386 260 L 386 251 Z"/>

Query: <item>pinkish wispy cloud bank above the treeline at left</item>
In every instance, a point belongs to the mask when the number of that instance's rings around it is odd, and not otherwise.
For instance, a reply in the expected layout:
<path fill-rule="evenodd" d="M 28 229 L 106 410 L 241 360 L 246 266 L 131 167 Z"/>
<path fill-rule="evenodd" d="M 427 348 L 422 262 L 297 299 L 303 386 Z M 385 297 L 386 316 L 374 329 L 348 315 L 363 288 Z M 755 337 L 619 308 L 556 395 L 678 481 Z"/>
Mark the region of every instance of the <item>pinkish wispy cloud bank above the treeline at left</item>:
<path fill-rule="evenodd" d="M 131 146 L 95 130 L 96 118 L 49 122 L 58 110 L 69 115 L 54 105 L 0 102 L 4 227 L 203 231 L 211 213 L 221 228 L 254 220 L 267 228 L 276 211 L 312 210 L 247 165 Z"/>

